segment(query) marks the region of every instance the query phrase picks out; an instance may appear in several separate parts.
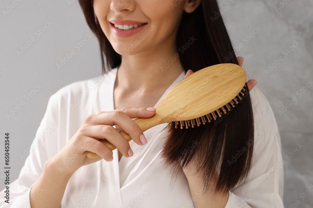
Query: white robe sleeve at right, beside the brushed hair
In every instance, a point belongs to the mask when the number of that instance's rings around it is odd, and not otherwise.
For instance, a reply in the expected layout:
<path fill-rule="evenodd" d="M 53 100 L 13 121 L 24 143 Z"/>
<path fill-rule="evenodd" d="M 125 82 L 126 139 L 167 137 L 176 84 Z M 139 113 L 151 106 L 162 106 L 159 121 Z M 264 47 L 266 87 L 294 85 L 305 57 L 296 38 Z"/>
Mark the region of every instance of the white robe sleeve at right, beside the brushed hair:
<path fill-rule="evenodd" d="M 253 91 L 254 90 L 254 91 Z M 251 91 L 254 113 L 254 156 L 248 180 L 229 192 L 225 208 L 278 208 L 283 205 L 284 168 L 280 134 L 264 94 Z"/>

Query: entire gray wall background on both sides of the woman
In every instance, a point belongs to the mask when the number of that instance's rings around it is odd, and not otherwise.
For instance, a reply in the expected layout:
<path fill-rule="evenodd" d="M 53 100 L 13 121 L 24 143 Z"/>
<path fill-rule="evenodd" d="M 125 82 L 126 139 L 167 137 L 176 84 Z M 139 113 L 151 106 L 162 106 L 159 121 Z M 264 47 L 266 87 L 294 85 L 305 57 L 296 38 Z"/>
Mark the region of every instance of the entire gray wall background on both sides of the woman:
<path fill-rule="evenodd" d="M 17 1 L 18 2 L 18 1 Z M 73 3 L 69 3 L 73 2 Z M 268 99 L 280 129 L 284 167 L 284 204 L 296 200 L 298 207 L 312 207 L 313 193 L 313 2 L 311 0 L 222 0 L 222 16 L 235 46 L 241 46 L 237 56 L 243 56 L 249 79 Z M 21 158 L 32 143 L 51 94 L 77 80 L 101 73 L 98 41 L 93 36 L 80 50 L 75 44 L 92 34 L 76 0 L 21 1 L 13 7 L 12 0 L 0 3 L 0 142 L 4 160 L 4 133 L 10 133 L 10 181 L 18 178 L 24 165 Z M 8 7 L 13 7 L 10 11 Z M 9 11 L 4 14 L 3 10 Z M 50 21 L 50 25 L 46 24 Z M 42 27 L 40 36 L 36 32 Z M 259 28 L 259 31 L 254 31 Z M 43 29 L 43 30 L 44 30 Z M 250 36 L 247 38 L 246 36 Z M 33 37 L 33 39 L 32 39 Z M 35 40 L 35 41 L 31 41 Z M 32 44 L 22 54 L 21 45 Z M 294 44 L 298 41 L 298 45 Z M 290 53 L 286 53 L 290 48 Z M 71 50 L 75 54 L 60 69 L 56 64 Z M 281 56 L 280 60 L 279 57 Z M 276 60 L 276 66 L 275 66 Z M 269 70 L 269 65 L 273 69 Z M 269 73 L 266 73 L 268 70 Z M 35 85 L 42 87 L 28 100 Z M 301 96 L 297 91 L 306 90 Z M 288 100 L 296 101 L 288 105 Z M 7 119 L 15 104 L 24 101 L 20 109 Z M 282 105 L 289 107 L 283 114 Z M 293 157 L 286 157 L 297 144 L 304 145 Z M 290 158 L 290 159 L 289 159 Z M 4 161 L 0 167 L 4 167 Z M 4 189 L 4 171 L 0 171 L 0 189 Z M 310 194 L 304 200 L 302 192 Z"/>

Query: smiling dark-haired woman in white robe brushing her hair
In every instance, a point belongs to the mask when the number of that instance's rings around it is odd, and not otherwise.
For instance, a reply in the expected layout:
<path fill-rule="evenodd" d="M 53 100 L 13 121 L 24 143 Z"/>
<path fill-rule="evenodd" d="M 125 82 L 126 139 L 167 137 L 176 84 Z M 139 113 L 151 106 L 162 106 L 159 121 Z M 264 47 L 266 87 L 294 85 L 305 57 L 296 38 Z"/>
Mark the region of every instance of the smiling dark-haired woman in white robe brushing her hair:
<path fill-rule="evenodd" d="M 216 127 L 177 132 L 160 124 L 143 133 L 132 121 L 154 115 L 150 106 L 190 75 L 188 68 L 242 64 L 233 56 L 216 1 L 81 0 L 80 5 L 111 70 L 50 97 L 35 148 L 11 184 L 11 203 L 3 207 L 283 207 L 283 171 L 269 176 L 281 161 L 279 132 L 258 89 Z M 229 125 L 236 118 L 239 128 Z M 129 133 L 130 143 L 114 125 Z M 208 141 L 220 138 L 215 146 L 201 139 L 211 131 Z M 98 141 L 104 138 L 118 150 Z M 189 139 L 194 146 L 175 157 L 166 149 L 167 138 Z M 209 151 L 201 158 L 203 147 Z M 100 157 L 89 159 L 85 151 Z"/>

